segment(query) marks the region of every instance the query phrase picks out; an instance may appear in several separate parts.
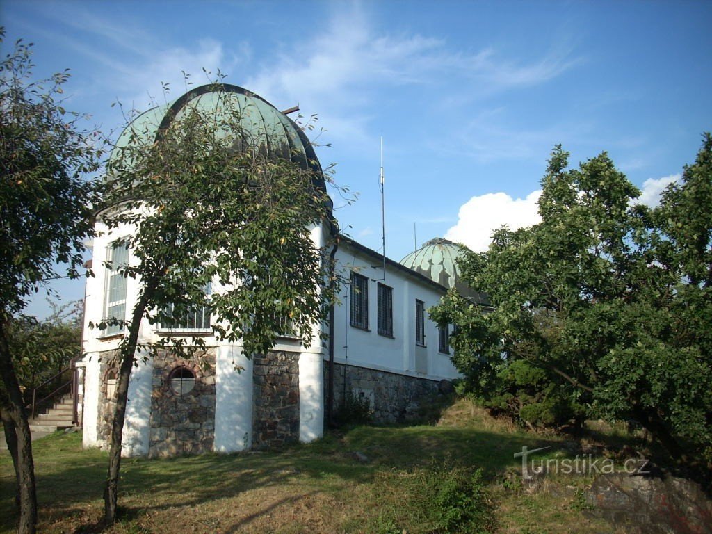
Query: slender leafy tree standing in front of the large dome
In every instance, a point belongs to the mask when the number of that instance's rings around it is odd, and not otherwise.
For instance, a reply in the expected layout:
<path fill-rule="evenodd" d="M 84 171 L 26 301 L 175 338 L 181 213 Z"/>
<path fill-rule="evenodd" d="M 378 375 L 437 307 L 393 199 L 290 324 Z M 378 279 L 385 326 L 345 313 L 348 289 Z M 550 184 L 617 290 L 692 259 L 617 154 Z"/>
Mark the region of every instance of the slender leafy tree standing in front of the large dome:
<path fill-rule="evenodd" d="M 131 255 L 123 276 L 140 279 L 140 293 L 120 344 L 117 402 L 112 422 L 105 520 L 116 518 L 122 429 L 131 368 L 156 346 L 140 345 L 143 319 L 167 323 L 206 305 L 218 340 L 241 340 L 246 355 L 273 347 L 288 318 L 303 343 L 312 339 L 335 294 L 328 253 L 315 246 L 310 228 L 333 224 L 331 201 L 318 162 L 293 162 L 252 146 L 243 111 L 216 83 L 214 108 L 189 100 L 169 112 L 158 132 L 127 127 L 125 145 L 108 164 L 105 210 L 109 231 L 134 229 L 125 240 Z M 207 283 L 220 287 L 208 300 Z M 103 328 L 106 324 L 100 324 Z M 201 338 L 160 347 L 195 352 Z"/>

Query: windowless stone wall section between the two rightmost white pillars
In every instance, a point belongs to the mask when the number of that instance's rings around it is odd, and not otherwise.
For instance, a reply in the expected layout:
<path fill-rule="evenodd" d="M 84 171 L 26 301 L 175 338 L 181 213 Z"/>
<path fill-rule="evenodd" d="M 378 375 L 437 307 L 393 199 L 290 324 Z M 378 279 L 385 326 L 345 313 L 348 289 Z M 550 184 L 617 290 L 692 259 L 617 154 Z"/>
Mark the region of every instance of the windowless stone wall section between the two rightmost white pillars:
<path fill-rule="evenodd" d="M 252 446 L 266 449 L 299 440 L 299 354 L 253 358 Z"/>

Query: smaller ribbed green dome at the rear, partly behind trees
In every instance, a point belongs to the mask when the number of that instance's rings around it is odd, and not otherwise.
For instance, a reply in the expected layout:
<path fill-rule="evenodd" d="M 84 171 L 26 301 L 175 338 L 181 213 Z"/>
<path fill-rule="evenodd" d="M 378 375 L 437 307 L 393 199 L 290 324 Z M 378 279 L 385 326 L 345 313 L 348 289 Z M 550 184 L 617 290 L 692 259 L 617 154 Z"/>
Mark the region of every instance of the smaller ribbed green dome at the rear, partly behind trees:
<path fill-rule="evenodd" d="M 400 263 L 441 286 L 456 289 L 465 298 L 476 303 L 486 303 L 486 295 L 473 291 L 460 277 L 460 269 L 455 260 L 461 254 L 458 244 L 436 237 L 426 241 L 417 251 L 409 253 Z"/>

